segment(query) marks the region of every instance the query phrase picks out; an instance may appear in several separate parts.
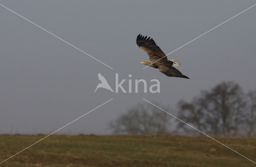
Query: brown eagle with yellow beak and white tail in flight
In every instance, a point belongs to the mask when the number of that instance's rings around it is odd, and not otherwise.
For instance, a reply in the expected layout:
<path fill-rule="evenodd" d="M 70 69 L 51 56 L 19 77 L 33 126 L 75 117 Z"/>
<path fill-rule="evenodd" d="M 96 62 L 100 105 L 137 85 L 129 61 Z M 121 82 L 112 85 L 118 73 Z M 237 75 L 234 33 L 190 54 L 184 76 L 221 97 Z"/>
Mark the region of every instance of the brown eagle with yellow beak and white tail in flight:
<path fill-rule="evenodd" d="M 148 65 L 159 69 L 161 73 L 168 77 L 180 77 L 189 79 L 186 75 L 183 75 L 173 66 L 180 66 L 180 62 L 175 59 L 168 60 L 166 54 L 156 45 L 155 41 L 147 36 L 138 35 L 136 39 L 138 47 L 144 50 L 148 56 L 149 61 L 142 61 L 141 64 Z"/>

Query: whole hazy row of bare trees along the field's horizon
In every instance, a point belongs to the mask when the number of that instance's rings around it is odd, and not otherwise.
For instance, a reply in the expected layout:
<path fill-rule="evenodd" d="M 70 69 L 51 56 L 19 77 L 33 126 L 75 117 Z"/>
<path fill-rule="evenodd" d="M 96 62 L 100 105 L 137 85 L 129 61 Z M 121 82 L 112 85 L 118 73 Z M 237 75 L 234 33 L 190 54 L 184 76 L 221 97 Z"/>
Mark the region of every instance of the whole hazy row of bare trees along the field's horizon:
<path fill-rule="evenodd" d="M 218 137 L 256 136 L 256 90 L 244 92 L 232 81 L 202 90 L 190 102 L 180 100 L 176 112 L 154 102 L 194 128 Z M 152 104 L 138 104 L 110 122 L 114 134 L 202 135 Z M 171 127 L 171 128 L 170 128 Z"/>

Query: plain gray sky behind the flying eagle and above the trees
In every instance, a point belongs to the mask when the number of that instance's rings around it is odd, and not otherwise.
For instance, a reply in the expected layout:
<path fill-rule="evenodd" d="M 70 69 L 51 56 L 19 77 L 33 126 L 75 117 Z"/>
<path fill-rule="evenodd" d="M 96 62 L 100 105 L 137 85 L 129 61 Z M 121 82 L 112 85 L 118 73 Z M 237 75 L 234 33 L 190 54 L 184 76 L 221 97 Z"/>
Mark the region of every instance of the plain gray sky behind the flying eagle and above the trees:
<path fill-rule="evenodd" d="M 50 133 L 114 98 L 60 133 L 107 134 L 106 125 L 142 98 L 176 107 L 202 89 L 235 81 L 256 89 L 256 7 L 168 55 L 188 79 L 167 77 L 141 65 L 148 55 L 139 33 L 168 54 L 254 5 L 253 0 L 57 1 L 0 0 L 18 14 L 82 49 L 102 65 L 0 6 L 0 133 Z M 112 88 L 119 79 L 160 81 L 160 93 L 94 90 L 97 73 Z M 128 81 L 124 87 L 128 90 Z M 132 86 L 134 88 L 134 85 Z M 173 119 L 174 121 L 174 119 Z"/>

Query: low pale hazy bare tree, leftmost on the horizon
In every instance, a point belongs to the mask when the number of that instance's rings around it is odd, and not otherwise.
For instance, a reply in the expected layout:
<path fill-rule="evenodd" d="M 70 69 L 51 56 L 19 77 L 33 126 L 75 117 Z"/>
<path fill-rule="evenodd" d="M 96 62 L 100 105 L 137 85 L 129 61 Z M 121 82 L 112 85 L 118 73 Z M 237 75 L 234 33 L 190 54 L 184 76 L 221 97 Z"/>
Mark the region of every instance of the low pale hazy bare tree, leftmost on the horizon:
<path fill-rule="evenodd" d="M 161 108 L 168 111 L 164 106 Z M 114 134 L 164 135 L 168 134 L 170 119 L 171 116 L 166 112 L 143 103 L 130 108 L 126 114 L 110 122 L 109 127 Z"/>

